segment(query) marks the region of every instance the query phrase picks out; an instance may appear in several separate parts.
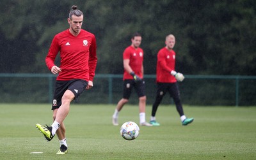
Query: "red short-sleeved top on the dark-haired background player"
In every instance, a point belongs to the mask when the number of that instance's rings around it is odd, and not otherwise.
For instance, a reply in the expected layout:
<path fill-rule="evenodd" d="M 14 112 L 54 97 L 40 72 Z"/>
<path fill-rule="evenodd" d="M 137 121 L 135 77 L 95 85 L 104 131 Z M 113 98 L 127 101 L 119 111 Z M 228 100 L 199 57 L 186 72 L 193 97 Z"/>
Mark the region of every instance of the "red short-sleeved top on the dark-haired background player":
<path fill-rule="evenodd" d="M 132 46 L 129 46 L 125 48 L 123 59 L 130 59 L 129 65 L 132 68 L 132 71 L 136 75 L 138 75 L 140 78 L 143 78 L 143 74 L 141 72 L 141 68 L 143 65 L 143 50 L 142 48 L 134 48 Z M 133 80 L 133 77 L 124 70 L 124 80 Z"/>

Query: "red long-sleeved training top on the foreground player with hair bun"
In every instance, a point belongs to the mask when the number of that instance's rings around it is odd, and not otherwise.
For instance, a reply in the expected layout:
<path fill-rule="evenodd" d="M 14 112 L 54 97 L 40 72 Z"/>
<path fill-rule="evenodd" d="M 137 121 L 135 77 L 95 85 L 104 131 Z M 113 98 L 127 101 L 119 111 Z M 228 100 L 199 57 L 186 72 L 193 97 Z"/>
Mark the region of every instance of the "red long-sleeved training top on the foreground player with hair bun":
<path fill-rule="evenodd" d="M 96 39 L 94 34 L 81 29 L 77 36 L 69 29 L 54 36 L 48 55 L 45 58 L 51 70 L 56 55 L 60 52 L 60 68 L 57 80 L 82 79 L 93 81 L 97 64 Z"/>

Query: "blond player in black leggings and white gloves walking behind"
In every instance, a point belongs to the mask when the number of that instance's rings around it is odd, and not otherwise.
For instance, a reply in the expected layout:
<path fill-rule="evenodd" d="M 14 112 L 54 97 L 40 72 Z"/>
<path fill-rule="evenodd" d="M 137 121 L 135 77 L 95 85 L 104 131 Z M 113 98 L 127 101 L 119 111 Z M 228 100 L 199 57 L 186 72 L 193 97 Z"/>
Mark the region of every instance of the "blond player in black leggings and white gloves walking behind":
<path fill-rule="evenodd" d="M 180 101 L 180 92 L 177 81 L 182 82 L 182 80 L 184 80 L 184 76 L 182 73 L 177 73 L 175 71 L 176 54 L 173 50 L 175 45 L 175 37 L 172 34 L 166 36 L 165 44 L 166 47 L 161 48 L 157 54 L 157 95 L 156 101 L 152 106 L 150 124 L 153 126 L 160 126 L 160 124 L 156 121 L 157 108 L 161 103 L 163 96 L 166 94 L 166 92 L 169 92 L 170 96 L 175 102 L 177 112 L 179 112 L 182 125 L 186 126 L 187 124 L 193 122 L 194 118 L 186 118 Z"/>

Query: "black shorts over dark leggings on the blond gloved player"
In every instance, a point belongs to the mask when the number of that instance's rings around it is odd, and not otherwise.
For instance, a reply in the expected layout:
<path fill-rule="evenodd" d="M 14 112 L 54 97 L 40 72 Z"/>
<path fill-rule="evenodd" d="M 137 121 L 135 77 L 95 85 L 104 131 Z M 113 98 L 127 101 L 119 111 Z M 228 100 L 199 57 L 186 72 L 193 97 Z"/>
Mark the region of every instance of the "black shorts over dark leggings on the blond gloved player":
<path fill-rule="evenodd" d="M 172 98 L 179 98 L 180 91 L 177 82 L 175 83 L 157 83 L 157 96 L 164 96 L 169 92 Z"/>

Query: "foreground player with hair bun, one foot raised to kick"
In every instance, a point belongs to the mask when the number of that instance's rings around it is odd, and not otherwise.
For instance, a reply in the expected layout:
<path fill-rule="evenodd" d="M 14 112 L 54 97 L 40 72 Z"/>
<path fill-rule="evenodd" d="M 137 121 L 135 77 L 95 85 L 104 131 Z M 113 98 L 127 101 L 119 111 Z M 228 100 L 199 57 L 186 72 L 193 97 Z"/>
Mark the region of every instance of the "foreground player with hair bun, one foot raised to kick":
<path fill-rule="evenodd" d="M 67 154 L 66 128 L 63 123 L 70 110 L 70 102 L 82 94 L 85 89 L 93 87 L 93 78 L 97 65 L 95 36 L 81 29 L 83 12 L 72 6 L 69 13 L 69 29 L 54 36 L 45 62 L 53 74 L 59 74 L 56 79 L 52 101 L 53 120 L 51 126 L 36 124 L 47 141 L 54 135 L 60 140 L 60 150 L 57 154 Z M 56 55 L 60 52 L 60 67 L 54 64 Z"/>

